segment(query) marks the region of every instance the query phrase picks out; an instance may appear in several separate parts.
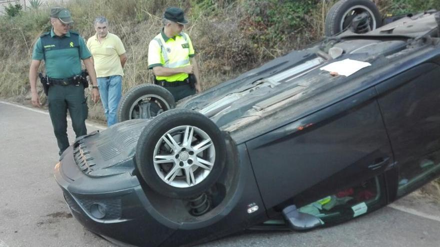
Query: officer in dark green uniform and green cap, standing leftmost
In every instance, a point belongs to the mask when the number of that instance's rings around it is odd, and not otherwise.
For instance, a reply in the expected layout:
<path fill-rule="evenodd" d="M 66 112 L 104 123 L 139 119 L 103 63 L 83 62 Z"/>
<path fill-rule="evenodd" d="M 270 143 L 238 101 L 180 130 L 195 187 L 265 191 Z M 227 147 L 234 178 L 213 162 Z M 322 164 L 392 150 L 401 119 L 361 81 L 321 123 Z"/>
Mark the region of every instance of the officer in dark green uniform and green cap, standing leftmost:
<path fill-rule="evenodd" d="M 77 75 L 81 74 L 81 59 L 92 82 L 91 95 L 95 103 L 99 100 L 99 91 L 96 73 L 90 60 L 91 54 L 85 46 L 84 39 L 78 33 L 69 31 L 70 24 L 73 23 L 70 12 L 63 7 L 52 8 L 50 23 L 50 32 L 43 33 L 33 48 L 29 82 L 32 104 L 40 107 L 36 78 L 41 60 L 44 60 L 45 73 L 50 83 L 47 94 L 49 115 L 61 155 L 69 146 L 67 109 L 76 137 L 87 134 L 85 119 L 88 108 L 84 86 L 77 79 Z"/>

